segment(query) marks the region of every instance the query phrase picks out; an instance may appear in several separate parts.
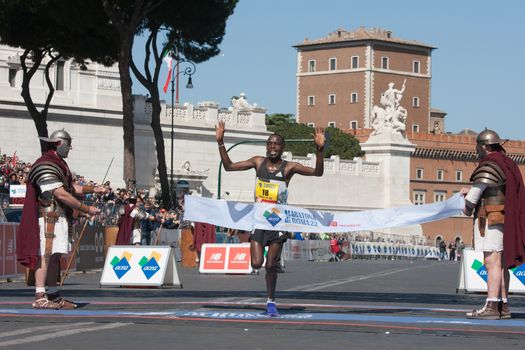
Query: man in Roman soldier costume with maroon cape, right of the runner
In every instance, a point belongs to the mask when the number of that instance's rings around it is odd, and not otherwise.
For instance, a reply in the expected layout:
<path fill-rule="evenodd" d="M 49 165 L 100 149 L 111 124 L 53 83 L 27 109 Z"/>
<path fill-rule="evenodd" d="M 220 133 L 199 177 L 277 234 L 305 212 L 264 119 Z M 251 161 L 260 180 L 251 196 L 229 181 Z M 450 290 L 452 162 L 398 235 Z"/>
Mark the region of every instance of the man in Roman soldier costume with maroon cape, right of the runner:
<path fill-rule="evenodd" d="M 472 173 L 464 213 L 474 213 L 474 248 L 482 250 L 487 268 L 487 300 L 467 318 L 511 318 L 507 302 L 509 268 L 525 259 L 525 188 L 516 163 L 507 157 L 499 135 L 485 129 L 476 139 L 481 161 Z"/>

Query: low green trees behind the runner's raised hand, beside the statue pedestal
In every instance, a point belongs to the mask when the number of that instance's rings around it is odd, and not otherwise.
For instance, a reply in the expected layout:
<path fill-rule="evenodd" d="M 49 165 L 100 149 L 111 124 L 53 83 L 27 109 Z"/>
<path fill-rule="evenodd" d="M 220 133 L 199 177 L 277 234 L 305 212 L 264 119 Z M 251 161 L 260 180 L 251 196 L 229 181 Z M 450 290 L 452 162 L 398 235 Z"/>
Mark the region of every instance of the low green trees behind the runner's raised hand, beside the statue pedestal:
<path fill-rule="evenodd" d="M 285 140 L 311 139 L 314 132 L 313 127 L 296 123 L 292 114 L 267 115 L 266 125 L 269 131 L 280 134 Z M 359 141 L 354 136 L 333 127 L 327 128 L 325 132 L 328 136 L 325 144 L 325 157 L 338 155 L 341 159 L 353 159 L 364 154 L 359 146 Z M 315 153 L 313 142 L 287 143 L 285 149 L 298 156 Z"/>

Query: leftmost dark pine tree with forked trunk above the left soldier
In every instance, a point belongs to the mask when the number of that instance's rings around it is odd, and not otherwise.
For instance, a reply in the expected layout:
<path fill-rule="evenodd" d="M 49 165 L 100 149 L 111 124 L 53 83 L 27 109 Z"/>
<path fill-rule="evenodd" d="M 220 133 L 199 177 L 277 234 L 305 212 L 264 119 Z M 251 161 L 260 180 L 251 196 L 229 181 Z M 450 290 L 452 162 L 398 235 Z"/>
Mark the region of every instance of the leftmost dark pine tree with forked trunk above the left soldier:
<path fill-rule="evenodd" d="M 39 136 L 48 136 L 47 115 L 55 92 L 51 67 L 70 58 L 81 68 L 87 60 L 111 65 L 115 51 L 110 31 L 102 8 L 81 0 L 0 0 L 0 42 L 24 50 L 21 95 Z M 38 110 L 30 83 L 42 65 L 49 92 Z M 42 141 L 41 150 L 45 150 Z"/>

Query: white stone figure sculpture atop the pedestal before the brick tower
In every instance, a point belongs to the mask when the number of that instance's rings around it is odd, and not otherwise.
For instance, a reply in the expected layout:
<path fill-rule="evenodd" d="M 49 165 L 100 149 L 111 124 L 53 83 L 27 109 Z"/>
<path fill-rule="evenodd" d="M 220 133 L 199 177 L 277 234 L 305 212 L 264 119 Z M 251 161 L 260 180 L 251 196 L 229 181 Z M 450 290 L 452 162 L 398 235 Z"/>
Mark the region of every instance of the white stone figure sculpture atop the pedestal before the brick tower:
<path fill-rule="evenodd" d="M 403 81 L 401 90 L 395 89 L 395 84 L 390 82 L 388 89 L 381 94 L 380 103 L 382 107 L 372 108 L 370 125 L 374 129 L 372 135 L 383 132 L 399 133 L 405 136 L 407 110 L 399 104 L 405 91 L 406 79 Z"/>

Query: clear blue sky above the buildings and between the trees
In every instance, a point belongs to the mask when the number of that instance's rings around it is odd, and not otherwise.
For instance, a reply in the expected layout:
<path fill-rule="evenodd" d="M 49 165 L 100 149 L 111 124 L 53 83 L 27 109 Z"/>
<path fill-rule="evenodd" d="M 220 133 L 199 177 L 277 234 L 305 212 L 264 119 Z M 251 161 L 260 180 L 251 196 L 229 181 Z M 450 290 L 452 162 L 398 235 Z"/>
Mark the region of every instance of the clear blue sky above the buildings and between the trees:
<path fill-rule="evenodd" d="M 437 49 L 432 55 L 432 107 L 448 113 L 446 131 L 485 126 L 525 140 L 525 1 L 240 0 L 221 54 L 197 65 L 194 89 L 181 79 L 180 101 L 228 107 L 245 92 L 268 113 L 296 112 L 293 45 L 337 28 L 389 29 Z M 134 55 L 140 56 L 138 39 Z M 162 75 L 162 83 L 167 74 Z M 134 93 L 146 90 L 134 81 Z M 170 101 L 171 95 L 164 95 Z"/>

